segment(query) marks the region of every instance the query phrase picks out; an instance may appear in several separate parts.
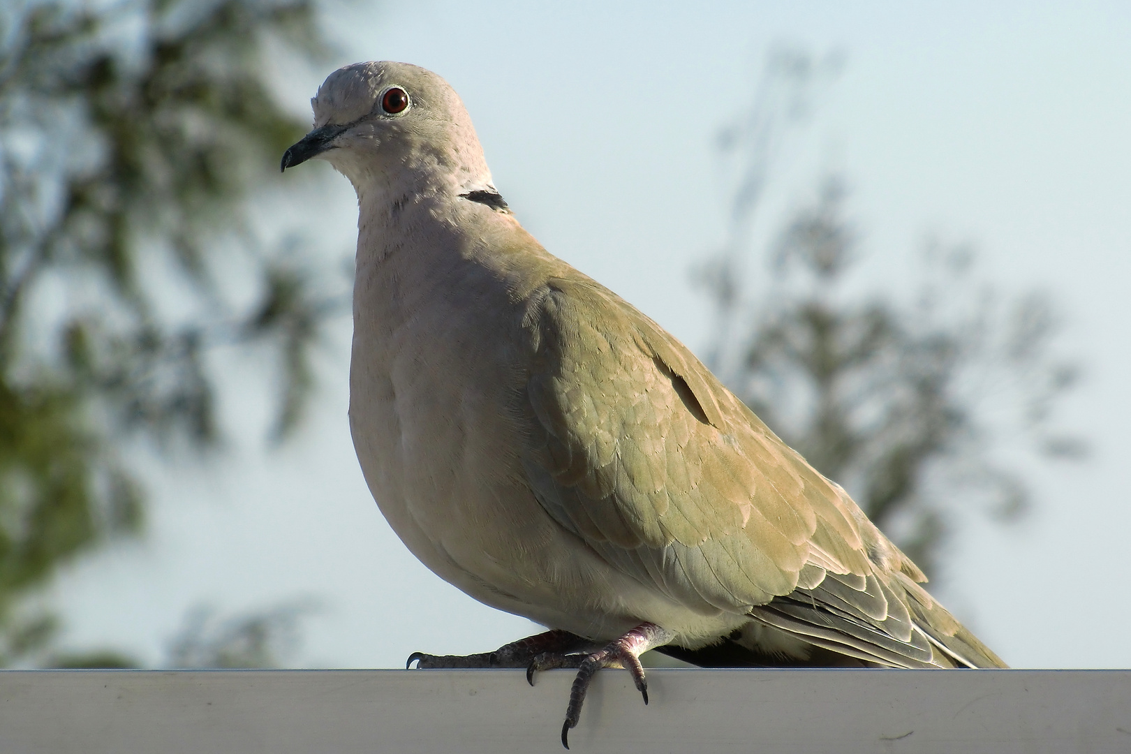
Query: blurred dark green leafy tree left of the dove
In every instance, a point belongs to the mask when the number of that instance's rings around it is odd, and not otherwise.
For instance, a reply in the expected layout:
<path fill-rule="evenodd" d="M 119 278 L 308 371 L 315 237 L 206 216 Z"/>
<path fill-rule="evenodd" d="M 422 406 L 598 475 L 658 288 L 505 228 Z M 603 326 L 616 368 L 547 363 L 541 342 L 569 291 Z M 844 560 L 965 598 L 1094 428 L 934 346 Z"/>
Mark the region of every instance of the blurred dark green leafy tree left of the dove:
<path fill-rule="evenodd" d="M 342 302 L 250 220 L 308 125 L 271 88 L 279 46 L 322 52 L 311 0 L 0 10 L 0 664 L 50 645 L 55 618 L 29 595 L 139 531 L 123 443 L 217 442 L 209 346 L 275 349 L 276 434 L 300 418 Z"/>

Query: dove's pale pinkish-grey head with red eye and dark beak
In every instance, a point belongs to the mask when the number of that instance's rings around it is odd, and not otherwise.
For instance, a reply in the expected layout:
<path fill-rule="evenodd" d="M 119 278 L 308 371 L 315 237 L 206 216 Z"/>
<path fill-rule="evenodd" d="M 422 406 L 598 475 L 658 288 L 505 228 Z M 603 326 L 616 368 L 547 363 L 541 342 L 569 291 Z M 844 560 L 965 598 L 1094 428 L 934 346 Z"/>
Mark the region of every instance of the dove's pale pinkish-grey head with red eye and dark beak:
<path fill-rule="evenodd" d="M 354 63 L 330 73 L 310 101 L 314 129 L 282 168 L 325 159 L 362 193 L 407 181 L 408 190 L 467 190 L 491 173 L 459 95 L 417 66 Z"/>

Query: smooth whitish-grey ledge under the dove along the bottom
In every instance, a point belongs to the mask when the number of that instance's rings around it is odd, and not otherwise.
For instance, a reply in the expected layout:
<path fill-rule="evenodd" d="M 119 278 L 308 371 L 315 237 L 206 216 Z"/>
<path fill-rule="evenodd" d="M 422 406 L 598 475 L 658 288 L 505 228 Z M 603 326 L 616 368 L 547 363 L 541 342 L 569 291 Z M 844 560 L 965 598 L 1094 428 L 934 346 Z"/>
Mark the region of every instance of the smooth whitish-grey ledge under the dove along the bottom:
<path fill-rule="evenodd" d="M 573 673 L 6 670 L 0 752 L 550 752 Z M 1131 752 L 1131 670 L 597 674 L 573 752 Z"/>

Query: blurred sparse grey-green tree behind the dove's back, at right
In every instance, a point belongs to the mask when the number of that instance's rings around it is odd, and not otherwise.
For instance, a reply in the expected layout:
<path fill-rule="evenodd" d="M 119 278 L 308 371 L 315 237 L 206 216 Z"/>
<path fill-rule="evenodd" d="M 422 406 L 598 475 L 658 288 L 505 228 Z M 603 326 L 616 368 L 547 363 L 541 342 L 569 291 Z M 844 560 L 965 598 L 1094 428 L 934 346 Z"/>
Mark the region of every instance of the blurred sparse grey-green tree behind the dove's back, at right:
<path fill-rule="evenodd" d="M 828 70 L 803 53 L 775 53 L 754 112 L 808 102 Z M 953 510 L 977 503 L 1003 519 L 1025 510 L 1028 489 L 998 460 L 1003 450 L 1028 442 L 1043 456 L 1085 453 L 1050 421 L 1078 370 L 1051 354 L 1048 297 L 1009 300 L 978 284 L 968 246 L 930 244 L 924 281 L 907 300 L 861 293 L 836 179 L 766 245 L 771 285 L 746 300 L 741 262 L 774 156 L 765 145 L 783 124 L 745 119 L 723 140 L 739 188 L 726 245 L 699 275 L 719 322 L 711 366 L 931 573 Z"/>

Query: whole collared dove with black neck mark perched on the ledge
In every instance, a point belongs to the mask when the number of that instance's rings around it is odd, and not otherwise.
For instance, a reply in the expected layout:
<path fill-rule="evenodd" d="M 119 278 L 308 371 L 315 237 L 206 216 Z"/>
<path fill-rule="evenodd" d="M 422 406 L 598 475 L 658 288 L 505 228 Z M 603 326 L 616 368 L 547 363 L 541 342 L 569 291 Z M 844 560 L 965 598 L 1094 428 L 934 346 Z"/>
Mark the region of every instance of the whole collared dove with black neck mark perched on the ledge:
<path fill-rule="evenodd" d="M 349 427 L 429 569 L 547 633 L 418 667 L 1004 667 L 837 484 L 658 324 L 551 255 L 495 190 L 439 76 L 329 76 L 283 170 L 360 207 Z"/>

